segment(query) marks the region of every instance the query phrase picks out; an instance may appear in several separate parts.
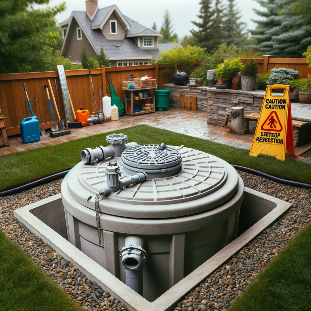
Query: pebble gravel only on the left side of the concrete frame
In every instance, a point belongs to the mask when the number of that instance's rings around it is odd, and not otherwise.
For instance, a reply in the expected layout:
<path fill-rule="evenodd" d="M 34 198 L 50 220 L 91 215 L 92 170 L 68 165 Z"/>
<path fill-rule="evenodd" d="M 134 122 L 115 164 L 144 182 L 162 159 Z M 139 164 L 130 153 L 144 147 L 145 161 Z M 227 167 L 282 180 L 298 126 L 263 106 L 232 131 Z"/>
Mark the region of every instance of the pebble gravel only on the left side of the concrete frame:
<path fill-rule="evenodd" d="M 62 178 L 12 196 L 0 197 L 0 229 L 85 310 L 128 311 L 128 308 L 89 280 L 77 267 L 35 236 L 13 215 L 16 208 L 60 193 Z"/>

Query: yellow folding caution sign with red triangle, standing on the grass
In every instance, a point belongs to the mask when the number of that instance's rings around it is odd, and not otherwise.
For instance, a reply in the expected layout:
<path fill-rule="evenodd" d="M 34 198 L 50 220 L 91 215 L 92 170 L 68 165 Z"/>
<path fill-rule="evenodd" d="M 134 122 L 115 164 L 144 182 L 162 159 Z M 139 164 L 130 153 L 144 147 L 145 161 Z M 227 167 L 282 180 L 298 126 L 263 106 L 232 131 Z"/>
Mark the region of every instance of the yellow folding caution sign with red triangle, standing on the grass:
<path fill-rule="evenodd" d="M 284 93 L 281 96 L 272 95 L 273 89 L 284 89 Z M 290 87 L 268 85 L 249 155 L 262 153 L 284 161 L 285 152 L 295 154 Z"/>

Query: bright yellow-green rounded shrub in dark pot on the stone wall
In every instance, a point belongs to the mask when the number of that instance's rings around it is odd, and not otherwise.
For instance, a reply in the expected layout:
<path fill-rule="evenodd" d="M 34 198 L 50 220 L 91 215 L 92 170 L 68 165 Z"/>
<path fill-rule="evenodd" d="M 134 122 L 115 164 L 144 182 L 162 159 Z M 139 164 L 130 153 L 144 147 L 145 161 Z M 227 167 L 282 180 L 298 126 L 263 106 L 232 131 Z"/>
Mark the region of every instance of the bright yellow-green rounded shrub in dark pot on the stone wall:
<path fill-rule="evenodd" d="M 222 84 L 226 89 L 231 89 L 232 78 L 243 69 L 243 64 L 239 59 L 227 59 L 219 64 L 216 69 L 216 78 L 221 78 Z"/>

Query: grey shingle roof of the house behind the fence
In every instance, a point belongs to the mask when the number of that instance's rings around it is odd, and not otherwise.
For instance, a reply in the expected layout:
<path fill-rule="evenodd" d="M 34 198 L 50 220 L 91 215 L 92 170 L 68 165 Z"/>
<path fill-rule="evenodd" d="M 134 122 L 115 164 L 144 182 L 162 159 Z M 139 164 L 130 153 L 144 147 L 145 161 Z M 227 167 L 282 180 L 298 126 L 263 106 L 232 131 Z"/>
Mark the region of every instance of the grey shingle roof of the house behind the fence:
<path fill-rule="evenodd" d="M 96 49 L 96 53 L 100 53 L 103 47 L 105 54 L 111 58 L 157 58 L 159 50 L 143 50 L 140 49 L 132 38 L 124 38 L 123 40 L 107 40 L 99 29 L 91 30 L 91 23 L 86 12 L 74 11 L 74 16 L 86 36 L 90 39 Z"/>

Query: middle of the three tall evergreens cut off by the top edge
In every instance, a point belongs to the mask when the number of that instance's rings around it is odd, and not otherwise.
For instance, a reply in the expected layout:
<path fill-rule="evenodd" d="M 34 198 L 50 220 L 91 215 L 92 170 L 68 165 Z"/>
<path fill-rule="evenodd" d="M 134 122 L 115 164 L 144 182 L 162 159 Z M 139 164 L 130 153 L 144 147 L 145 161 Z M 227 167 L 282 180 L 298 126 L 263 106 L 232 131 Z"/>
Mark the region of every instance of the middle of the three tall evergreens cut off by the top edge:
<path fill-rule="evenodd" d="M 224 18 L 225 41 L 228 45 L 242 47 L 247 41 L 247 33 L 243 33 L 246 24 L 240 21 L 241 15 L 236 9 L 235 0 L 228 0 L 228 8 Z"/>

